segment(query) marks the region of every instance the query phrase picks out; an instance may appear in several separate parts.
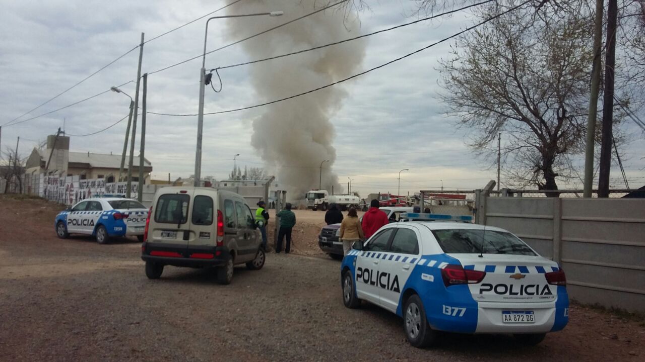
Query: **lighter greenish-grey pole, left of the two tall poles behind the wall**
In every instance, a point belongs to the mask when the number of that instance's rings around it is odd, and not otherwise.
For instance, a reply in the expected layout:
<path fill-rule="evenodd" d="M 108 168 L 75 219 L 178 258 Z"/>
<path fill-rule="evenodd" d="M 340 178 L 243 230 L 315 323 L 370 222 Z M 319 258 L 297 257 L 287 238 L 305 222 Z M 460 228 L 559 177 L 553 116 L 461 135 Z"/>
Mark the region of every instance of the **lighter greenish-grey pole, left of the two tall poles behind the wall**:
<path fill-rule="evenodd" d="M 586 151 L 584 154 L 584 197 L 591 197 L 593 189 L 593 147 L 595 146 L 596 115 L 600 92 L 600 53 L 602 49 L 603 0 L 596 0 L 596 19 L 593 28 L 593 66 L 591 67 L 591 88 L 589 114 L 587 115 Z M 499 182 L 497 182 L 499 185 Z"/>

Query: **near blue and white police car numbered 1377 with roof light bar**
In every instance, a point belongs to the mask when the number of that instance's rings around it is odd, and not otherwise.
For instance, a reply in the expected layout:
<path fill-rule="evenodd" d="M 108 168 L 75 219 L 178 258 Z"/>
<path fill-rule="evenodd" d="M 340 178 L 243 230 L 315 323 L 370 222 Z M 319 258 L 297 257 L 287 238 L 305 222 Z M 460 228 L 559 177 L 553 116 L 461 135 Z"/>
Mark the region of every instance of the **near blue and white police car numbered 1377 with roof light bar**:
<path fill-rule="evenodd" d="M 346 307 L 366 300 L 395 312 L 415 347 L 432 345 L 439 331 L 508 333 L 535 345 L 567 324 L 564 272 L 517 236 L 471 216 L 402 218 L 415 221 L 385 225 L 343 259 Z"/>

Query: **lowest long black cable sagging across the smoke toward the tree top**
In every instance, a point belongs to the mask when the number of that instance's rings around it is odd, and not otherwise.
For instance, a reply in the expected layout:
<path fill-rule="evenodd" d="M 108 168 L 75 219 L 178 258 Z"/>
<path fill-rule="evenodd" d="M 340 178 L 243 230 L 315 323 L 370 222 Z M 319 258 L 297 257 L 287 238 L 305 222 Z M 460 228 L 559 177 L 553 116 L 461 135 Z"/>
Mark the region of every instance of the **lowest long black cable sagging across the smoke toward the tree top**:
<path fill-rule="evenodd" d="M 341 2 L 342 2 L 342 1 L 341 1 Z M 345 78 L 345 79 L 341 79 L 340 81 L 332 82 L 332 83 L 327 84 L 327 85 L 325 85 L 325 86 L 321 86 L 321 87 L 315 88 L 315 89 L 313 89 L 313 90 L 309 90 L 309 91 L 305 91 L 305 92 L 303 92 L 303 93 L 299 93 L 299 94 L 296 94 L 296 95 L 292 95 L 292 96 L 290 96 L 290 97 L 284 97 L 284 98 L 282 98 L 282 99 L 272 100 L 271 102 L 264 102 L 264 103 L 261 103 L 261 104 L 255 104 L 255 106 L 248 106 L 248 107 L 243 107 L 243 108 L 235 108 L 235 109 L 233 109 L 233 110 L 225 110 L 225 111 L 217 111 L 217 112 L 204 113 L 204 115 L 219 115 L 219 114 L 222 114 L 222 113 L 231 113 L 231 112 L 237 112 L 237 111 L 250 110 L 250 109 L 252 109 L 252 108 L 258 108 L 258 107 L 268 106 L 268 105 L 270 105 L 270 104 L 274 104 L 274 103 L 278 103 L 278 102 L 283 102 L 284 100 L 289 100 L 289 99 L 293 99 L 293 98 L 301 97 L 301 96 L 303 96 L 303 95 L 307 95 L 307 94 L 309 94 L 309 93 L 313 93 L 313 92 L 315 92 L 315 91 L 323 90 L 323 89 L 325 89 L 325 88 L 329 88 L 329 87 L 331 87 L 331 86 L 335 86 L 336 84 L 340 84 L 340 83 L 342 83 L 342 82 L 350 81 L 351 79 L 354 79 L 354 78 L 360 77 L 361 75 L 365 75 L 365 74 L 367 74 L 367 73 L 370 73 L 371 71 L 374 71 L 374 70 L 377 70 L 377 69 L 383 68 L 384 66 L 388 66 L 388 65 L 390 65 L 390 64 L 392 64 L 392 63 L 394 63 L 394 62 L 401 61 L 402 59 L 406 59 L 407 57 L 410 57 L 410 56 L 415 55 L 415 54 L 417 54 L 417 53 L 421 53 L 421 52 L 423 52 L 424 50 L 427 50 L 427 49 L 429 49 L 429 48 L 432 48 L 433 46 L 435 46 L 435 45 L 437 45 L 437 44 L 444 43 L 445 41 L 448 41 L 448 40 L 450 40 L 450 39 L 452 39 L 452 38 L 454 38 L 454 37 L 457 37 L 457 36 L 459 36 L 459 35 L 461 35 L 461 34 L 463 34 L 463 33 L 469 32 L 470 30 L 473 30 L 474 28 L 477 28 L 477 27 L 479 27 L 479 26 L 481 26 L 481 25 L 483 25 L 483 24 L 486 24 L 486 23 L 488 23 L 488 22 L 490 22 L 490 21 L 492 21 L 492 20 L 494 20 L 494 19 L 497 19 L 498 17 L 501 17 L 502 15 L 505 15 L 505 14 L 508 14 L 508 13 L 510 13 L 510 12 L 512 12 L 512 11 L 514 11 L 514 10 L 517 10 L 518 8 L 521 8 L 522 6 L 524 6 L 524 5 L 526 5 L 526 4 L 530 3 L 530 2 L 531 2 L 531 0 L 524 1 L 524 3 L 521 3 L 520 5 L 517 5 L 517 6 L 513 6 L 513 7 L 512 7 L 512 8 L 510 8 L 509 10 L 506 10 L 505 12 L 501 12 L 501 13 L 499 13 L 499 14 L 497 14 L 497 15 L 493 16 L 493 17 L 490 17 L 490 18 L 488 18 L 488 19 L 486 19 L 486 20 L 482 21 L 481 23 L 475 24 L 475 25 L 473 25 L 473 26 L 469 26 L 468 28 L 466 28 L 466 29 L 462 30 L 461 32 L 454 33 L 453 35 L 450 35 L 449 37 L 445 37 L 444 39 L 441 39 L 440 41 L 437 41 L 437 42 L 435 42 L 435 43 L 432 43 L 432 44 L 430 44 L 430 45 L 428 45 L 428 46 L 424 46 L 423 48 L 421 48 L 421 49 L 419 49 L 419 50 L 415 50 L 415 51 L 414 51 L 414 52 L 412 52 L 412 53 L 408 53 L 408 54 L 406 54 L 406 55 L 403 55 L 402 57 L 398 57 L 398 58 L 396 58 L 396 59 L 393 59 L 392 61 L 386 62 L 386 63 L 381 64 L 381 65 L 379 65 L 379 66 L 375 66 L 374 68 L 370 68 L 370 69 L 368 69 L 368 70 L 366 70 L 366 71 L 362 71 L 361 73 L 357 73 L 357 74 L 352 75 L 352 76 L 350 76 L 350 77 L 347 77 L 347 78 Z M 165 115 L 165 116 L 175 116 L 175 117 L 196 116 L 196 114 L 171 114 L 171 113 L 157 113 L 157 112 L 148 112 L 148 113 L 152 113 L 152 114 L 154 114 L 154 115 Z"/>

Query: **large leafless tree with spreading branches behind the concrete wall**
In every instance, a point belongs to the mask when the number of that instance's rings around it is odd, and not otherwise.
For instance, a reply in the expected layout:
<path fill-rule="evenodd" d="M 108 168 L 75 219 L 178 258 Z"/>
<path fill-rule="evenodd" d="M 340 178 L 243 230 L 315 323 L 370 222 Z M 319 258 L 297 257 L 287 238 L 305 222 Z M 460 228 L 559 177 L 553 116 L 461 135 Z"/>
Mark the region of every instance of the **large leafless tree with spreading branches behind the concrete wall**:
<path fill-rule="evenodd" d="M 499 12 L 488 6 L 479 17 Z M 584 153 L 592 24 L 581 14 L 525 21 L 532 12 L 516 10 L 459 37 L 441 61 L 441 97 L 470 131 L 472 148 L 491 156 L 502 133 L 507 175 L 557 190 L 557 177 L 573 176 L 563 156 Z"/>

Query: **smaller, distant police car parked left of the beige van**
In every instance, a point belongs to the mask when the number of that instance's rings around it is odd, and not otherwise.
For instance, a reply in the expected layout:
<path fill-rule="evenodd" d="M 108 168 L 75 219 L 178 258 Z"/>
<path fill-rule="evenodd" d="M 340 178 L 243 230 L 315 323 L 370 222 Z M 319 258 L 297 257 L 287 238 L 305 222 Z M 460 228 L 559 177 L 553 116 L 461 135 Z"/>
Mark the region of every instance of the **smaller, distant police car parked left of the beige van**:
<path fill-rule="evenodd" d="M 59 238 L 70 234 L 95 236 L 99 244 L 114 236 L 137 236 L 143 242 L 148 209 L 129 198 L 86 198 L 57 214 L 54 225 Z"/>

